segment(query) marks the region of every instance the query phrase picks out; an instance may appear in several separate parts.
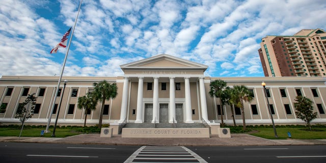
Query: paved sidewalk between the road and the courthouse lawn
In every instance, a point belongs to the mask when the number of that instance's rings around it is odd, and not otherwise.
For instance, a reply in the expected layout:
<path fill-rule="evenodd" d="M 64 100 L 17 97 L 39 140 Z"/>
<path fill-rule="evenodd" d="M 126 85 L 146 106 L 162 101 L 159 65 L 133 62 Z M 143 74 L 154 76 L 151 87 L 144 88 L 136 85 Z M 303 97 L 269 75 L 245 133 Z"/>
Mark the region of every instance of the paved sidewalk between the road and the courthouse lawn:
<path fill-rule="evenodd" d="M 268 140 L 249 134 L 231 134 L 231 138 L 100 138 L 100 134 L 79 134 L 67 138 L 42 137 L 0 137 L 0 142 L 18 143 L 61 143 L 61 144 L 101 144 L 101 145 L 152 145 L 152 146 L 277 146 L 277 145 L 326 145 L 326 140 Z"/>

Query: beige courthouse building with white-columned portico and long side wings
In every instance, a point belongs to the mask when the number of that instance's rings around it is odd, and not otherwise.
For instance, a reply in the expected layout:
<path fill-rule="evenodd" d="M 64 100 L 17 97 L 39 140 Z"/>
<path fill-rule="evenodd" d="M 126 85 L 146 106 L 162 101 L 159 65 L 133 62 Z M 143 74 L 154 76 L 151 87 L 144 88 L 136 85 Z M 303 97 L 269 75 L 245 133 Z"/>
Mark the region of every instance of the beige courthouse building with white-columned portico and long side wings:
<path fill-rule="evenodd" d="M 58 76 L 2 76 L 0 79 L 0 122 L 18 123 L 15 113 L 29 94 L 36 93 L 34 115 L 26 123 L 45 124 L 49 116 L 56 119 L 58 103 L 62 96 L 59 125 L 83 125 L 85 110 L 77 108 L 78 97 L 91 92 L 93 83 L 106 80 L 116 83 L 118 95 L 104 105 L 103 123 L 194 123 L 206 121 L 233 124 L 231 106 L 220 104 L 209 95 L 210 82 L 222 79 L 228 86 L 244 85 L 252 91 L 253 101 L 244 103 L 246 123 L 270 124 L 267 101 L 261 86 L 266 83 L 268 101 L 276 124 L 304 123 L 295 116 L 294 99 L 303 95 L 314 102 L 317 119 L 326 122 L 326 78 L 324 77 L 209 77 L 204 76 L 206 65 L 183 60 L 170 55 L 157 55 L 120 66 L 124 76 L 77 77 L 68 80 L 64 94 L 62 86 L 55 95 Z M 55 110 L 50 113 L 53 100 Z M 233 108 L 233 107 L 232 107 Z M 240 108 L 233 108 L 237 124 L 242 124 Z M 87 124 L 99 121 L 100 103 L 88 113 Z"/>

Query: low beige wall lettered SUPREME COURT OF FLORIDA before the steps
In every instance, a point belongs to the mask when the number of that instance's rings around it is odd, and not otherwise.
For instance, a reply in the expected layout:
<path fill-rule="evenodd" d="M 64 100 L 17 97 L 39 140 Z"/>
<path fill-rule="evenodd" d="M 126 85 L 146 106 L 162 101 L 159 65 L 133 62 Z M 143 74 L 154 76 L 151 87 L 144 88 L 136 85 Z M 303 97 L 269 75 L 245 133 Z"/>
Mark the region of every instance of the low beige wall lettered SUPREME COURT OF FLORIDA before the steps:
<path fill-rule="evenodd" d="M 122 128 L 122 138 L 209 138 L 209 128 Z"/>

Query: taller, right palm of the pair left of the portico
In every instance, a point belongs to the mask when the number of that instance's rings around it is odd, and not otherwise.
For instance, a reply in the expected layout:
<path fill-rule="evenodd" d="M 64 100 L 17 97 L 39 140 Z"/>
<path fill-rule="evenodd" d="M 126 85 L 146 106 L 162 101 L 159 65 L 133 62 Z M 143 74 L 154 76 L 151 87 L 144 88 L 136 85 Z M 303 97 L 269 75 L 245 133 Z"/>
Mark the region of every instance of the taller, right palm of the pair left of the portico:
<path fill-rule="evenodd" d="M 97 101 L 101 102 L 101 112 L 100 119 L 98 122 L 98 128 L 102 127 L 103 111 L 105 100 L 110 100 L 110 98 L 115 98 L 118 95 L 118 87 L 115 83 L 107 83 L 106 80 L 103 80 L 99 83 L 93 83 L 94 86 L 94 97 Z"/>

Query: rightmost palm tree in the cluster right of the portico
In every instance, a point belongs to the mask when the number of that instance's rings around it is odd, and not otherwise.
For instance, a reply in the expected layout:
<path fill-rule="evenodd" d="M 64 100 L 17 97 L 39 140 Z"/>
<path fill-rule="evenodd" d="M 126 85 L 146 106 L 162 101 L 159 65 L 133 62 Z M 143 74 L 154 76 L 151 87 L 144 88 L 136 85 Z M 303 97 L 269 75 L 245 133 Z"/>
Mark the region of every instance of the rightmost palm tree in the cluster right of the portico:
<path fill-rule="evenodd" d="M 234 95 L 237 97 L 238 101 L 236 102 L 236 106 L 240 107 L 241 115 L 242 115 L 242 122 L 243 122 L 243 130 L 246 130 L 246 118 L 244 117 L 244 107 L 243 101 L 250 102 L 253 100 L 253 96 L 249 92 L 246 86 L 234 86 Z"/>

